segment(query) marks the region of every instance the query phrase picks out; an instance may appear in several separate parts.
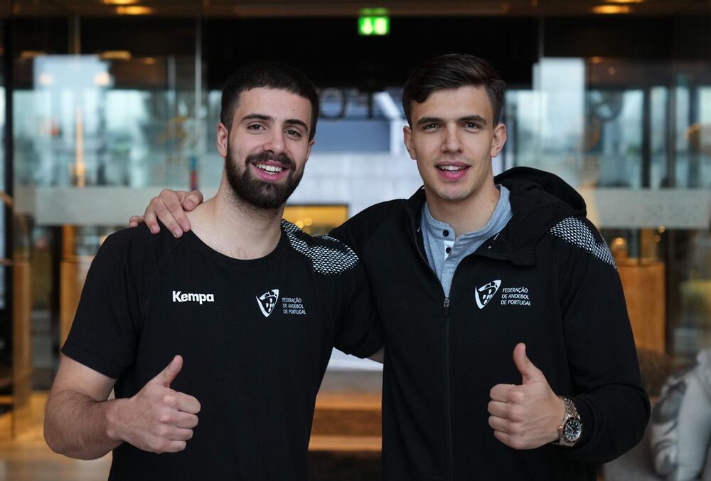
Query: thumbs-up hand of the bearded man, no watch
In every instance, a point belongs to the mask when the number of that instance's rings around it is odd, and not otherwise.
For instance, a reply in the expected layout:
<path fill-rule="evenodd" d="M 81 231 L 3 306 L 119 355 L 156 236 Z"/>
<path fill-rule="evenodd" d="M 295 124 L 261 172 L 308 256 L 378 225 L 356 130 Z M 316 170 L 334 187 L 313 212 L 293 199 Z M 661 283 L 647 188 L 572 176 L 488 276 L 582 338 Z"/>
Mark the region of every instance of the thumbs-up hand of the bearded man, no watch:
<path fill-rule="evenodd" d="M 198 425 L 200 403 L 193 396 L 171 389 L 182 368 L 183 358 L 175 356 L 135 396 L 117 400 L 122 402 L 110 411 L 109 437 L 152 453 L 185 449 Z"/>

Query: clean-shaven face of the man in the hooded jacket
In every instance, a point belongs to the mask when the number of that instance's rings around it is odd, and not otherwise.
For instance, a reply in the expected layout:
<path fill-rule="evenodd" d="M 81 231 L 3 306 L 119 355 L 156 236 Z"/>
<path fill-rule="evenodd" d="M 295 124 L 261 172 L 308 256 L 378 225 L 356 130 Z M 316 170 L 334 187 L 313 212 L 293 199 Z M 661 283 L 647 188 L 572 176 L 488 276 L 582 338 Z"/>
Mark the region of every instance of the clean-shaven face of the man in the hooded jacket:
<path fill-rule="evenodd" d="M 405 145 L 417 160 L 428 201 L 465 201 L 482 186 L 493 187 L 491 158 L 506 142 L 506 127 L 493 124 L 486 88 L 437 90 L 412 102 L 410 120 Z"/>

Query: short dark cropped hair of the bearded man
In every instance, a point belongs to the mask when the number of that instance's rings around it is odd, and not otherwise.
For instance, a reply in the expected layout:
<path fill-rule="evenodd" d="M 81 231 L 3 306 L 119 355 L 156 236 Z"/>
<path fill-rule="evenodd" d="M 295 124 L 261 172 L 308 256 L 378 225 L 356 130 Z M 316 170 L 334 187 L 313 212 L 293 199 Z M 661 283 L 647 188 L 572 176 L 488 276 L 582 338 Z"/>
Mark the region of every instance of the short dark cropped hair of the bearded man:
<path fill-rule="evenodd" d="M 232 117 L 239 105 L 240 94 L 253 88 L 277 88 L 304 97 L 311 102 L 311 127 L 309 140 L 316 135 L 319 121 L 319 93 L 301 70 L 278 62 L 256 62 L 245 65 L 230 75 L 223 88 L 220 104 L 220 122 L 232 128 Z"/>

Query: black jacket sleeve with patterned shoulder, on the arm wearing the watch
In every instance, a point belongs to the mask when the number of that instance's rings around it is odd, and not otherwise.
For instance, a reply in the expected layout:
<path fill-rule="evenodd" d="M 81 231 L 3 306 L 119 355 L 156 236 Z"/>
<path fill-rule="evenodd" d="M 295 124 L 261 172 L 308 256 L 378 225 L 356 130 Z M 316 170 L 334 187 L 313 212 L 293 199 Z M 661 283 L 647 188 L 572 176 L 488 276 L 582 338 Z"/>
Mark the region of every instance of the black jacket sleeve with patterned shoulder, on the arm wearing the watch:
<path fill-rule="evenodd" d="M 550 234 L 572 400 L 583 425 L 579 442 L 560 449 L 573 458 L 607 462 L 639 443 L 650 411 L 624 293 L 606 243 L 586 218 L 567 218 Z"/>

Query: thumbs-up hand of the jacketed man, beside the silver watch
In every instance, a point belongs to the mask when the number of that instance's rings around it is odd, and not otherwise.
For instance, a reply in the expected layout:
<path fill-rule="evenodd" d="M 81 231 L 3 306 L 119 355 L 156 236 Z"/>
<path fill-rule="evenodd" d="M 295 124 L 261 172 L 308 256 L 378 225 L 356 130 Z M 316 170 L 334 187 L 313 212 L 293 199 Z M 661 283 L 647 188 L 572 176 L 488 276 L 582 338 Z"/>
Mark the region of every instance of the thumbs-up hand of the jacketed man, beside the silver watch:
<path fill-rule="evenodd" d="M 489 393 L 493 435 L 514 449 L 534 449 L 556 441 L 565 403 L 528 359 L 525 344 L 513 349 L 513 362 L 521 373 L 521 384 L 496 384 Z"/>

